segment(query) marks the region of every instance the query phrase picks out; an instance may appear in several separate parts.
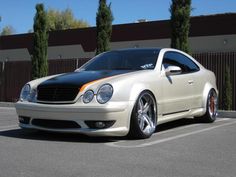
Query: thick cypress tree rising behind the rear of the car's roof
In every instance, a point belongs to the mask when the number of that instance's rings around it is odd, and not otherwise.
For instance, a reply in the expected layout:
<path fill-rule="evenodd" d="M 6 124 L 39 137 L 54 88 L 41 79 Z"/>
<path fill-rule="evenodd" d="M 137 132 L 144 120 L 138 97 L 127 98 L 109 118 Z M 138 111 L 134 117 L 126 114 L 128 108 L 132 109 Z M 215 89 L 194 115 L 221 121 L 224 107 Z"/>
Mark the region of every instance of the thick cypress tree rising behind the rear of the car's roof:
<path fill-rule="evenodd" d="M 172 0 L 170 12 L 171 47 L 189 53 L 191 0 Z"/>

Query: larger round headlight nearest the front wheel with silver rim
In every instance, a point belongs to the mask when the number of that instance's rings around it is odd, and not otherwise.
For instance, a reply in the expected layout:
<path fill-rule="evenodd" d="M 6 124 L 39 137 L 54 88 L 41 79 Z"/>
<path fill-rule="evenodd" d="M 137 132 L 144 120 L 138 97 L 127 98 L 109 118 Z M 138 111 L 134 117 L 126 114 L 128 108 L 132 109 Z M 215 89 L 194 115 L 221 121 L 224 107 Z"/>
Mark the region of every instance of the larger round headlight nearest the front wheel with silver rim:
<path fill-rule="evenodd" d="M 110 84 L 104 84 L 98 89 L 97 101 L 100 104 L 108 102 L 113 94 L 113 88 Z"/>

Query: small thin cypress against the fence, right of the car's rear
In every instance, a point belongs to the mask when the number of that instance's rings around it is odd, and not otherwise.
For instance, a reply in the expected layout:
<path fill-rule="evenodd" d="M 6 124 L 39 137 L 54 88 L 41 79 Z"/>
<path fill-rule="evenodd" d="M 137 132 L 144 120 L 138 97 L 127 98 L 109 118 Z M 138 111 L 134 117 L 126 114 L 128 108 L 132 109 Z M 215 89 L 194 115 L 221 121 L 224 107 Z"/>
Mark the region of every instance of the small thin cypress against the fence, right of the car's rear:
<path fill-rule="evenodd" d="M 224 89 L 223 89 L 223 109 L 232 110 L 232 84 L 230 80 L 229 66 L 225 70 Z"/>

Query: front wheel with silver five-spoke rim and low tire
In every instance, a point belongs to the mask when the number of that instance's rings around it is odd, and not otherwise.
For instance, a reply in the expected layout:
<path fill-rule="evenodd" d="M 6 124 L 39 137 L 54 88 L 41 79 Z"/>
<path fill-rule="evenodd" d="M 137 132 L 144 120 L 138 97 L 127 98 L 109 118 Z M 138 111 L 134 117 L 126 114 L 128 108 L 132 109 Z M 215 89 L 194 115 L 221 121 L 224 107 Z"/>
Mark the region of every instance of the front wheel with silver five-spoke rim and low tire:
<path fill-rule="evenodd" d="M 132 111 L 129 136 L 135 139 L 149 138 L 156 130 L 157 108 L 154 96 L 143 91 Z"/>

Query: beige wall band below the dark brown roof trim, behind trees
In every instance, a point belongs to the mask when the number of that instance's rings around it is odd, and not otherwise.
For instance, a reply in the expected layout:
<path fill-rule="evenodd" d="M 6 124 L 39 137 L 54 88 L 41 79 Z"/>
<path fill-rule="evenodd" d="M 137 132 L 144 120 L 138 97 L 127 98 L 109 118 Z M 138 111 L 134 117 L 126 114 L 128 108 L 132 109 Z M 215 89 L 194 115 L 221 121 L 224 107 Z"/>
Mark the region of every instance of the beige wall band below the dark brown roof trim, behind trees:
<path fill-rule="evenodd" d="M 189 38 L 192 53 L 236 51 L 236 34 Z M 134 47 L 169 47 L 170 39 L 112 42 L 112 49 Z M 51 46 L 49 59 L 92 58 L 94 52 L 85 52 L 81 45 Z M 27 49 L 0 50 L 0 61 L 30 60 Z"/>

